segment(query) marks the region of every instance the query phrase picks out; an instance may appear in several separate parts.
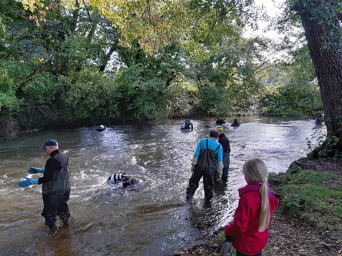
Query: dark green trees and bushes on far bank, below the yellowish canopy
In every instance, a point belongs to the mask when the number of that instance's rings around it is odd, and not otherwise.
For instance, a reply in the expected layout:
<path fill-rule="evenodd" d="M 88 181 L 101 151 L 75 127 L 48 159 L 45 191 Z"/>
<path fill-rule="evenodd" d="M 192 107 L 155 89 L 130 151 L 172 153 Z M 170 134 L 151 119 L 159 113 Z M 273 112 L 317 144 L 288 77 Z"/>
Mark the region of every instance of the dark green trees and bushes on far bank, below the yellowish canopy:
<path fill-rule="evenodd" d="M 43 20 L 22 8 L 15 0 L 0 4 L 0 139 L 44 126 L 308 115 L 322 106 L 307 48 L 272 63 L 264 55 L 269 40 L 243 38 L 243 25 L 196 42 L 205 57 L 177 40 L 148 55 L 136 40 L 122 46 L 96 8 L 70 13 L 58 5 Z"/>

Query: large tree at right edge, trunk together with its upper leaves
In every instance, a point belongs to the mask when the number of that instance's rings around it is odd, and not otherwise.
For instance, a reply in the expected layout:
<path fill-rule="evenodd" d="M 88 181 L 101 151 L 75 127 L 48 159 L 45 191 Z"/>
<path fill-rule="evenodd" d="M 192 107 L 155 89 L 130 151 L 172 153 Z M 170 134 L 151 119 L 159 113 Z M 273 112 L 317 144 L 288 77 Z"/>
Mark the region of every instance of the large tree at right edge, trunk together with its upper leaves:
<path fill-rule="evenodd" d="M 324 120 L 327 145 L 342 151 L 342 12 L 341 0 L 288 1 L 278 25 L 300 21 L 308 50 L 315 67 Z M 333 143 L 330 143 L 333 142 Z"/>

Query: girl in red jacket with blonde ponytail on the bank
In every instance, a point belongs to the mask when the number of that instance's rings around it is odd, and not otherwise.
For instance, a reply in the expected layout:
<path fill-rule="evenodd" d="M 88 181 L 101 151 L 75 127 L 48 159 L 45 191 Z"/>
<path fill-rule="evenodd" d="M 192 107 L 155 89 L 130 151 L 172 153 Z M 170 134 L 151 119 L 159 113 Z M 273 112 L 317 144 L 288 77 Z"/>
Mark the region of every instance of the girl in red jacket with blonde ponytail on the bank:
<path fill-rule="evenodd" d="M 269 190 L 263 160 L 247 160 L 242 173 L 247 185 L 239 188 L 240 199 L 234 220 L 224 229 L 224 235 L 228 242 L 233 242 L 237 256 L 261 256 L 267 243 L 272 212 L 279 201 Z"/>

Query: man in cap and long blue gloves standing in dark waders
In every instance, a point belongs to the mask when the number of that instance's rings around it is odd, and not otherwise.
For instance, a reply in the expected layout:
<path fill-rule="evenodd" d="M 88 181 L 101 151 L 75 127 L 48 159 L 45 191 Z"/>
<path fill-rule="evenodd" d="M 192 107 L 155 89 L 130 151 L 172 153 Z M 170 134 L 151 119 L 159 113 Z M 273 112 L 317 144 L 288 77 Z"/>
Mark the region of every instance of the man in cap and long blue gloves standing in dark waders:
<path fill-rule="evenodd" d="M 50 156 L 44 168 L 29 167 L 27 172 L 44 173 L 38 179 L 24 177 L 25 180 L 19 182 L 19 186 L 42 184 L 42 199 L 44 209 L 42 216 L 45 218 L 45 225 L 49 226 L 51 231 L 57 230 L 56 216 L 60 216 L 64 225 L 68 223 L 70 216 L 68 200 L 70 198 L 70 171 L 68 167 L 68 158 L 58 149 L 58 143 L 54 139 L 49 139 L 40 147 Z"/>

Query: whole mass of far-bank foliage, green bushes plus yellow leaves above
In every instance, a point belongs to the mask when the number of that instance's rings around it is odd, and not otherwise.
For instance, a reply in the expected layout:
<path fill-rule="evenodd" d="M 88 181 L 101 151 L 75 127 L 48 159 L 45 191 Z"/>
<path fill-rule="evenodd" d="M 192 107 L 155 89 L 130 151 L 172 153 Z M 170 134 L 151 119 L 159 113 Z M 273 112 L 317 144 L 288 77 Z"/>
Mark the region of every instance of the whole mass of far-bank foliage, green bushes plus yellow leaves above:
<path fill-rule="evenodd" d="M 274 71 L 264 54 L 269 42 L 241 36 L 263 18 L 253 1 L 21 3 L 0 3 L 0 112 L 24 130 L 276 114 L 266 97 L 295 115 L 316 107 L 315 76 L 300 69 L 308 51 L 293 52 L 291 65 Z M 288 107 L 304 97 L 312 100 Z"/>

